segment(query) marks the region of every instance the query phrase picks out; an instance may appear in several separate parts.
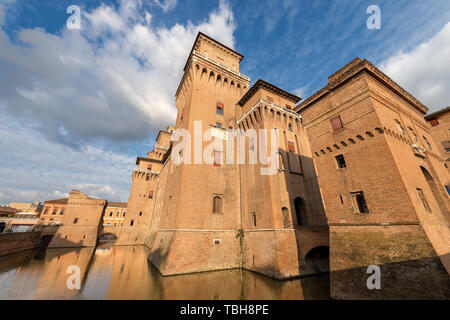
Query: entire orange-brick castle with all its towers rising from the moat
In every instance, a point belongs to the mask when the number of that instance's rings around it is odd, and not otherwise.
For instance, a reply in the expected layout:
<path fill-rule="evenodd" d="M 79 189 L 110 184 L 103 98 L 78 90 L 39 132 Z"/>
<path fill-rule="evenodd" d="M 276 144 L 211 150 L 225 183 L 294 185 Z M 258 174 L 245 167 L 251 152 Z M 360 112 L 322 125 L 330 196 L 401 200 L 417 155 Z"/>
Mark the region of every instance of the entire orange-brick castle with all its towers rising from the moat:
<path fill-rule="evenodd" d="M 300 102 L 263 80 L 249 87 L 242 59 L 199 33 L 175 95 L 176 124 L 137 158 L 126 215 L 105 225 L 106 201 L 73 191 L 50 247 L 95 246 L 112 234 L 115 245 L 148 246 L 162 275 L 331 271 L 336 298 L 414 290 L 413 297 L 448 298 L 450 175 L 428 109 L 367 60 L 354 59 Z M 223 163 L 225 151 L 205 144 L 200 152 L 211 152 L 212 164 L 176 165 L 171 157 L 176 129 L 212 129 L 227 140 L 229 129 L 274 128 L 275 174 L 261 175 L 264 165 L 249 163 L 249 152 L 243 164 Z M 254 147 L 250 135 L 245 144 Z M 194 159 L 195 148 L 182 156 Z M 365 287 L 370 265 L 380 266 L 386 290 Z"/>

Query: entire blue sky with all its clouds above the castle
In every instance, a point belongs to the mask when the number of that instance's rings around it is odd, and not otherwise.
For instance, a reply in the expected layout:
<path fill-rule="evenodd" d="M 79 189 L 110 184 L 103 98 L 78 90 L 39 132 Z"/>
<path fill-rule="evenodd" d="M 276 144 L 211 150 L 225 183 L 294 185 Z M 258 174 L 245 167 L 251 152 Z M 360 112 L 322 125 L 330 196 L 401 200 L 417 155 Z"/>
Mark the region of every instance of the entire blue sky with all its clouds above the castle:
<path fill-rule="evenodd" d="M 71 4 L 82 30 L 66 28 Z M 72 188 L 126 201 L 135 157 L 175 119 L 199 30 L 242 53 L 252 82 L 307 98 L 359 56 L 437 110 L 450 104 L 449 22 L 448 0 L 0 0 L 0 203 Z"/>

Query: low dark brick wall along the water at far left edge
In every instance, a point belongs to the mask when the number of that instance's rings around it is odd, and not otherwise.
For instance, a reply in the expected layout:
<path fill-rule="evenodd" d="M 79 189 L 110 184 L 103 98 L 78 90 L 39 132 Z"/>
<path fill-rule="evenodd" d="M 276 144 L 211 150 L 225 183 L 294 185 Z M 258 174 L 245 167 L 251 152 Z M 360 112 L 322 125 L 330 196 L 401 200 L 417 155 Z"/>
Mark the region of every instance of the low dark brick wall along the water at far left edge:
<path fill-rule="evenodd" d="M 40 232 L 11 232 L 0 234 L 0 256 L 39 247 Z"/>

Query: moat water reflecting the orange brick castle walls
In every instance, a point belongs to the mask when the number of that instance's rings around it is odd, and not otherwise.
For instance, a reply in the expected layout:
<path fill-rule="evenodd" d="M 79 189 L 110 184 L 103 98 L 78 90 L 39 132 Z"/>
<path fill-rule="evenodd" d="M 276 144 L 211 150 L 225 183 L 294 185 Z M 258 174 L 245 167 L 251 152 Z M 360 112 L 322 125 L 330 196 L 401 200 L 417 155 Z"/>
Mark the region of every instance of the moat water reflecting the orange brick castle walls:
<path fill-rule="evenodd" d="M 148 254 L 143 246 L 103 246 L 2 257 L 0 299 L 329 299 L 327 274 L 291 281 L 244 270 L 162 277 Z M 80 268 L 80 289 L 67 287 L 73 265 Z"/>

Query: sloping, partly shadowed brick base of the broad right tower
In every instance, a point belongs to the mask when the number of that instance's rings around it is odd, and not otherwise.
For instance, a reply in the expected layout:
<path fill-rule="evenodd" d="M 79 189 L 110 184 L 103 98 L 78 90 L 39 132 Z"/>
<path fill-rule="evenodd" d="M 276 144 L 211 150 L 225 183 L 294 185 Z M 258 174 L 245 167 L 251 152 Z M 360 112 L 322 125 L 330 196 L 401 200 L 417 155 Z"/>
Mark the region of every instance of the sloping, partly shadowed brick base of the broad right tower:
<path fill-rule="evenodd" d="M 367 288 L 367 267 L 381 289 Z M 419 225 L 330 227 L 331 297 L 450 299 L 450 277 Z"/>

